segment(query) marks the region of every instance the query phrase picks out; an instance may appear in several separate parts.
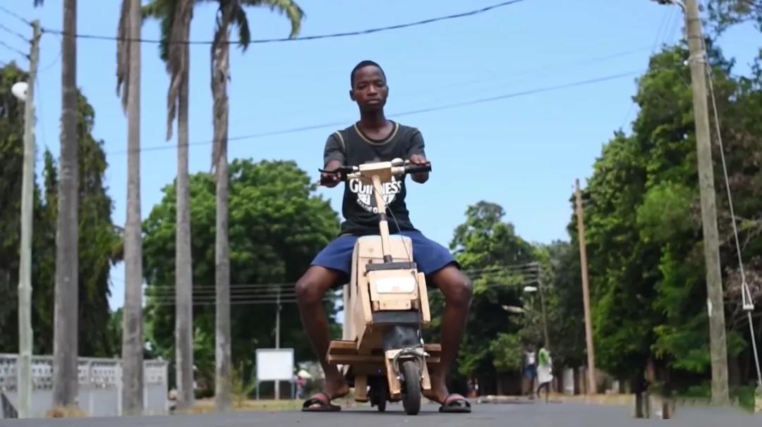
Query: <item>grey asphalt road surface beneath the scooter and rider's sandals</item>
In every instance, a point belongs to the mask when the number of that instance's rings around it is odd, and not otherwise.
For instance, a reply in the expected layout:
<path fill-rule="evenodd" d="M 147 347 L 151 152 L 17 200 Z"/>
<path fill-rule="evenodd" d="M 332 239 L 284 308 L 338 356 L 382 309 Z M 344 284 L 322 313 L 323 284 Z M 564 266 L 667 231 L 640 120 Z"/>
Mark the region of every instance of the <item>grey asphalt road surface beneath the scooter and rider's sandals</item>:
<path fill-rule="evenodd" d="M 248 412 L 194 416 L 144 416 L 87 419 L 0 419 L 5 427 L 628 427 L 630 425 L 680 425 L 715 427 L 762 425 L 762 416 L 735 409 L 678 408 L 671 420 L 632 419 L 628 406 L 599 406 L 581 403 L 474 404 L 470 414 L 440 414 L 438 406 L 424 405 L 418 416 L 407 416 L 400 404 L 389 404 L 386 413 L 370 408 L 344 409 L 339 413 Z"/>

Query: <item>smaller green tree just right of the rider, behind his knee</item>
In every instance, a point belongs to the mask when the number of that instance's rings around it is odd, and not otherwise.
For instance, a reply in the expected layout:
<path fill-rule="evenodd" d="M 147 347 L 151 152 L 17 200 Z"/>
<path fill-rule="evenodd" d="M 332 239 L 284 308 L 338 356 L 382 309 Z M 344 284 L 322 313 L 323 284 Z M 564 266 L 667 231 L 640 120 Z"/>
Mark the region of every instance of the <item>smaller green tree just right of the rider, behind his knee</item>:
<path fill-rule="evenodd" d="M 527 320 L 505 309 L 523 306 L 521 292 L 530 275 L 521 266 L 535 258 L 532 245 L 517 236 L 514 226 L 503 221 L 504 215 L 504 209 L 495 203 L 469 206 L 466 221 L 456 228 L 450 242 L 450 250 L 473 283 L 466 335 L 456 361 L 459 375 L 453 381 L 463 387 L 463 378 L 478 378 L 486 393 L 500 387 L 498 371 L 514 369 L 517 339 L 536 343 L 541 336 L 527 336 Z M 443 298 L 440 292 L 431 292 L 430 300 L 432 330 L 427 331 L 427 339 L 435 342 Z"/>

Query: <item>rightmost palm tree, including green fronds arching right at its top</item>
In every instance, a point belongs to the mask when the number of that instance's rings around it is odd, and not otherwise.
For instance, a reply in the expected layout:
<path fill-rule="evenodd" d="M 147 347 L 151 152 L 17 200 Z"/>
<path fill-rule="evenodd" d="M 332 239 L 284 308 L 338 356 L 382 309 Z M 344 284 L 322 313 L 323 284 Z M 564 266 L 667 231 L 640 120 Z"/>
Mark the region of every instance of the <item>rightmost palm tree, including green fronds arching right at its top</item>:
<path fill-rule="evenodd" d="M 216 378 L 215 406 L 219 411 L 229 408 L 231 402 L 231 334 L 230 334 L 230 245 L 228 236 L 228 94 L 230 77 L 230 25 L 239 30 L 239 46 L 247 49 L 251 43 L 245 6 L 267 6 L 286 14 L 291 21 L 290 37 L 296 37 L 304 12 L 292 0 L 215 0 L 219 2 L 216 29 L 212 44 L 212 96 L 214 142 L 212 167 L 216 169 Z"/>

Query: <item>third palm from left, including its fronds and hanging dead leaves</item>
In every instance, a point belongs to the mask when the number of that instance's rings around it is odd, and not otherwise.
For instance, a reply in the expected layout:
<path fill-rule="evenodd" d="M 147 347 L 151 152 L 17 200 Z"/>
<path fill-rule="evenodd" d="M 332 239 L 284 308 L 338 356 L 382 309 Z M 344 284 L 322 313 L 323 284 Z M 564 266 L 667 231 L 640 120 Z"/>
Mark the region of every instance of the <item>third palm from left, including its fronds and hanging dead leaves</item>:
<path fill-rule="evenodd" d="M 143 16 L 161 22 L 160 56 L 170 77 L 167 94 L 167 139 L 172 137 L 172 122 L 178 118 L 177 231 L 175 232 L 175 368 L 178 384 L 178 409 L 193 405 L 193 265 L 191 260 L 191 188 L 188 175 L 188 84 L 194 0 L 152 0 L 144 6 Z"/>

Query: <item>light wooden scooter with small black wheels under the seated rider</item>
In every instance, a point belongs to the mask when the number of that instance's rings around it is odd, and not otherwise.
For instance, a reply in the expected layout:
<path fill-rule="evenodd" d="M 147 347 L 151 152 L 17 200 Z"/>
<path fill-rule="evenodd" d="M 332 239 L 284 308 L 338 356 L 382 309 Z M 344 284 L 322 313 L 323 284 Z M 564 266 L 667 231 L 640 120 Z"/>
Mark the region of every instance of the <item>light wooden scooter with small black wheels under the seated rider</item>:
<path fill-rule="evenodd" d="M 409 237 L 389 235 L 385 183 L 407 174 L 431 171 L 402 159 L 339 168 L 341 180 L 373 186 L 379 235 L 357 239 L 351 279 L 344 285 L 342 339 L 331 341 L 328 363 L 338 365 L 354 400 L 379 411 L 399 402 L 405 413 L 421 410 L 422 390 L 431 390 L 430 368 L 440 361 L 439 344 L 424 344 L 421 330 L 431 323 L 426 280 L 413 262 Z M 328 172 L 322 170 L 322 172 Z"/>

